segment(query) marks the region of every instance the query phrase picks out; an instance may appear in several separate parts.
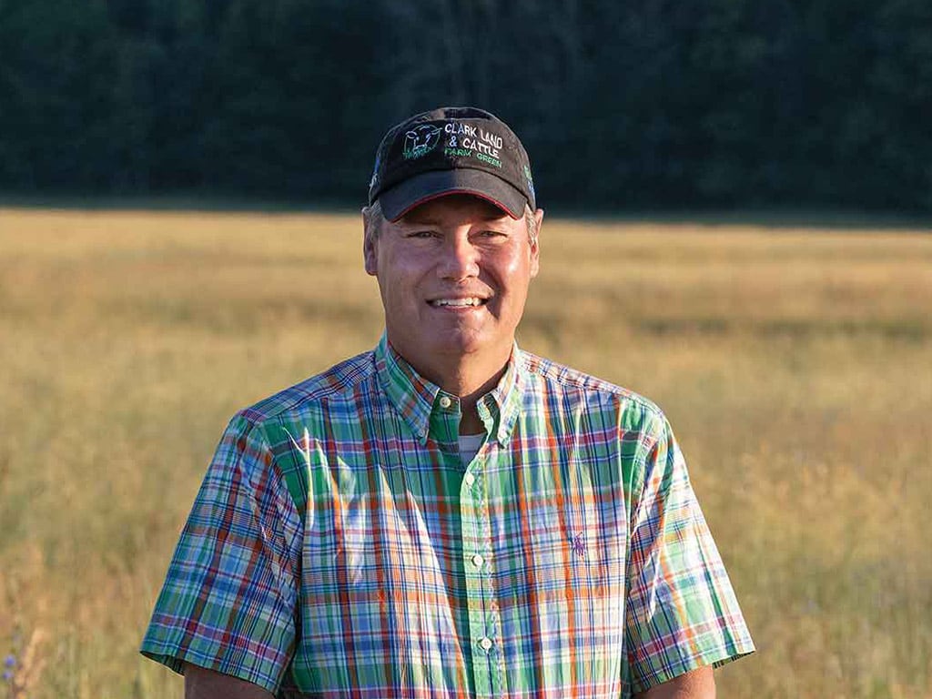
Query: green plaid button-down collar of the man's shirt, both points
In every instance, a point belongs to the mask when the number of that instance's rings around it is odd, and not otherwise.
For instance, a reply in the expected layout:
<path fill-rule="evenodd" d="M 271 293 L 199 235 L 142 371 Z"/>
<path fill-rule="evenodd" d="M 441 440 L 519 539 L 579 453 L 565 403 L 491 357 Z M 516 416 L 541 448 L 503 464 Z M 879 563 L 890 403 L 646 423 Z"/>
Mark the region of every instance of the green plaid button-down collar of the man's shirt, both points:
<path fill-rule="evenodd" d="M 438 409 L 444 393 L 440 387 L 421 377 L 411 364 L 382 335 L 375 351 L 376 372 L 382 390 L 398 410 L 411 432 L 421 445 L 427 444 L 431 429 L 431 416 Z M 520 393 L 524 384 L 524 355 L 514 343 L 505 373 L 494 389 L 479 399 L 476 408 L 488 432 L 504 446 L 514 430 L 521 405 Z"/>

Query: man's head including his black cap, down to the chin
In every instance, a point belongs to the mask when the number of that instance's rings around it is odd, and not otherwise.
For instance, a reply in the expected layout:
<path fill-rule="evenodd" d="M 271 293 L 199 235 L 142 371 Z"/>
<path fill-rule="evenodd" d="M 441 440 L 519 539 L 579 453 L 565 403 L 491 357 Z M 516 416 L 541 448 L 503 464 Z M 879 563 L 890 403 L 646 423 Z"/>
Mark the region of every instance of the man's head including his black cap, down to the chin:
<path fill-rule="evenodd" d="M 363 210 L 365 268 L 392 346 L 418 371 L 507 361 L 542 216 L 524 146 L 496 117 L 446 108 L 389 130 Z"/>

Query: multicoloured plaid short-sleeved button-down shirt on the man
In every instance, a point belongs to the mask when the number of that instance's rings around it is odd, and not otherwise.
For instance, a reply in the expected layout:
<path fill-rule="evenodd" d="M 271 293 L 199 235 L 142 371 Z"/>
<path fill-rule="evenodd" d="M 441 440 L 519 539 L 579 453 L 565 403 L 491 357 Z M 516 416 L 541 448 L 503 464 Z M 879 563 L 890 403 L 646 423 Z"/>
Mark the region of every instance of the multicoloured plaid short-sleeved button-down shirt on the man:
<path fill-rule="evenodd" d="M 377 349 L 232 419 L 143 653 L 315 697 L 626 697 L 754 651 L 669 424 L 514 348 L 459 399 Z"/>

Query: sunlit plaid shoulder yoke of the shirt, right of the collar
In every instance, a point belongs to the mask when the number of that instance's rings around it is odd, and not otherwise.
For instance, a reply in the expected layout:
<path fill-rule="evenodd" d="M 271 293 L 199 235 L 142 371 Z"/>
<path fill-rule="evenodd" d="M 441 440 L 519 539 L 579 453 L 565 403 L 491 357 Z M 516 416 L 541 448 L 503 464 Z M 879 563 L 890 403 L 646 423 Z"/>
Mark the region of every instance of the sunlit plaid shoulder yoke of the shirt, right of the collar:
<path fill-rule="evenodd" d="M 644 418 L 665 419 L 657 404 L 636 391 L 524 349 L 521 354 L 531 386 L 537 390 L 575 394 L 587 403 L 595 401 L 600 404 L 616 404 L 620 411 L 626 413 L 638 413 Z"/>

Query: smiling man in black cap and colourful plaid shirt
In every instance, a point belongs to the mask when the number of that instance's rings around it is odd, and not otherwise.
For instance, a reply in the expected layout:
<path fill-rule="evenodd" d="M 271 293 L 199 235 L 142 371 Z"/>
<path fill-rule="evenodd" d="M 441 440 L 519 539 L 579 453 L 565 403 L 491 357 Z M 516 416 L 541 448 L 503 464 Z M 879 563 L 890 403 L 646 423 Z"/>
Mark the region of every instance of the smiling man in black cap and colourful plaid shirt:
<path fill-rule="evenodd" d="M 189 697 L 712 697 L 754 650 L 660 410 L 514 342 L 543 212 L 473 108 L 379 146 L 378 347 L 240 411 L 142 651 Z"/>

